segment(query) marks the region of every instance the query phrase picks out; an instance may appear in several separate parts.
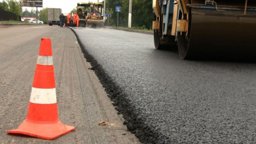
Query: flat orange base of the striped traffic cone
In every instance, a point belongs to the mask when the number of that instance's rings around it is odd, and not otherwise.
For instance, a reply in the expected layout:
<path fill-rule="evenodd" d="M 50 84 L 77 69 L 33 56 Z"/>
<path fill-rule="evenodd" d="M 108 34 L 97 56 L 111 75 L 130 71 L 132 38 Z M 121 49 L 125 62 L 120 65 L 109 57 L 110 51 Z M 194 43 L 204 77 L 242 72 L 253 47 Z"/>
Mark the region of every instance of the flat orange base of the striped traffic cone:
<path fill-rule="evenodd" d="M 41 139 L 56 139 L 74 130 L 75 127 L 64 125 L 60 120 L 54 124 L 35 124 L 24 120 L 16 130 L 8 130 L 7 134 L 24 134 Z"/>

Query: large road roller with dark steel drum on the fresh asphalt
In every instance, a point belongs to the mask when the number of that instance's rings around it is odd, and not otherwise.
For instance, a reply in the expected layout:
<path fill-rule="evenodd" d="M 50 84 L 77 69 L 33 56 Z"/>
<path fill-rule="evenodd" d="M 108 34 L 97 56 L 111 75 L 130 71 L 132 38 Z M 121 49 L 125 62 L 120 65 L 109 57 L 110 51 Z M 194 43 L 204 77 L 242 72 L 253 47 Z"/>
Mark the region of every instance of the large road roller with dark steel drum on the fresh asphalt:
<path fill-rule="evenodd" d="M 153 0 L 155 48 L 177 47 L 181 59 L 255 58 L 256 1 Z"/>

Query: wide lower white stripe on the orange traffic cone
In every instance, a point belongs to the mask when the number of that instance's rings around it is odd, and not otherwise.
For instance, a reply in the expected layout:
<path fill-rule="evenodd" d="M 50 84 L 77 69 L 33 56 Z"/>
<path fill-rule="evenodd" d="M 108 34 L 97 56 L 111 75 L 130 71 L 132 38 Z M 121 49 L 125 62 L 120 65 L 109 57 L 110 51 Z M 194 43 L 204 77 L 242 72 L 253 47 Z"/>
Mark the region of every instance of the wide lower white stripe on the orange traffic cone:
<path fill-rule="evenodd" d="M 57 103 L 56 88 L 33 88 L 30 96 L 31 103 L 53 104 Z"/>

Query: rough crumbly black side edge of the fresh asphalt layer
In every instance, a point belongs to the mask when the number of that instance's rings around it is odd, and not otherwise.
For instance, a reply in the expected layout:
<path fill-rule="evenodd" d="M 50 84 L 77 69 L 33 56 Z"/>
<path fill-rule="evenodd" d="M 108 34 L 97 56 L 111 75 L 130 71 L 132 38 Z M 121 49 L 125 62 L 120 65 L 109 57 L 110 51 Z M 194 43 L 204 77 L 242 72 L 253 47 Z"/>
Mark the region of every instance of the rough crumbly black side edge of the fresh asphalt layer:
<path fill-rule="evenodd" d="M 115 81 L 105 73 L 103 67 L 90 53 L 86 51 L 86 48 L 82 45 L 81 40 L 79 39 L 77 33 L 75 33 L 74 29 L 71 29 L 75 36 L 77 37 L 77 42 L 81 47 L 81 52 L 84 54 L 84 58 L 86 58 L 86 62 L 90 62 L 93 70 L 101 84 L 105 88 L 107 92 L 107 96 L 111 98 L 113 101 L 113 105 L 115 109 L 122 113 L 124 117 L 124 123 L 126 127 L 132 134 L 135 134 L 141 143 L 166 143 L 165 135 L 159 134 L 153 126 L 148 126 L 143 118 L 139 116 L 139 111 L 132 105 L 131 101 L 128 99 L 128 95 L 124 93 L 124 90 L 120 88 Z"/>

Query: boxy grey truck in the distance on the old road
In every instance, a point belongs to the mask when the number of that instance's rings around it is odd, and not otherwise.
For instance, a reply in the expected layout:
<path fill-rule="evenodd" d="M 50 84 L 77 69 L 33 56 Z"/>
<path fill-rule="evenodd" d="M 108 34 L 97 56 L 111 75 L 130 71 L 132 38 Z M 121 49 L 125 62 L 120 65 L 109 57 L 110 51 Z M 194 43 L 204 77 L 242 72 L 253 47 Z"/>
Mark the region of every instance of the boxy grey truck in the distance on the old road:
<path fill-rule="evenodd" d="M 47 16 L 49 26 L 60 26 L 60 14 L 62 14 L 62 9 L 48 9 Z"/>

